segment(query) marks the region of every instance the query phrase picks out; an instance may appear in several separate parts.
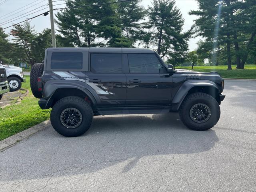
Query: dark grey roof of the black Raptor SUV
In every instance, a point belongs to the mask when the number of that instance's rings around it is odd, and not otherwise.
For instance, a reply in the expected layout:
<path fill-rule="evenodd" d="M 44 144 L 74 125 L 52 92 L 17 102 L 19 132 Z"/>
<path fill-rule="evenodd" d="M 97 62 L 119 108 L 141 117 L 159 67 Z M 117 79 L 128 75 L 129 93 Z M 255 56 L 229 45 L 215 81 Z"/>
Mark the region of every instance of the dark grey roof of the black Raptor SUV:
<path fill-rule="evenodd" d="M 47 48 L 46 50 L 89 50 L 90 53 L 154 53 L 154 51 L 151 49 L 114 47 L 60 47 Z"/>

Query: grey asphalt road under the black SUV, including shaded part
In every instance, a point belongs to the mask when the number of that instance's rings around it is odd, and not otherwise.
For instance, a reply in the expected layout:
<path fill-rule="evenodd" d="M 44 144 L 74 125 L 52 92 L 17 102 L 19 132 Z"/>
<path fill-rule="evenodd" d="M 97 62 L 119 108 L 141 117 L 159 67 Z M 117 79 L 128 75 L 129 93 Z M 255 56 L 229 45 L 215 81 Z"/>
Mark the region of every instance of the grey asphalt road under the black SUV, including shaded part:
<path fill-rule="evenodd" d="M 0 153 L 1 192 L 255 191 L 256 82 L 224 93 L 204 132 L 175 113 L 98 116 L 77 138 L 49 127 Z"/>

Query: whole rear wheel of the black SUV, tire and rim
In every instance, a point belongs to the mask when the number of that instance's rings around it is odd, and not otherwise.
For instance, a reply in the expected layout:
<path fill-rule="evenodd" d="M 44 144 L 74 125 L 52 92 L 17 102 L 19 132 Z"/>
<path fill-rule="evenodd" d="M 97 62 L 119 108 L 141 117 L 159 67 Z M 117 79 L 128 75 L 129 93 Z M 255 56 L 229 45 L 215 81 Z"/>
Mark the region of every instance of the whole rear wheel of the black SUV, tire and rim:
<path fill-rule="evenodd" d="M 93 112 L 90 104 L 77 96 L 60 99 L 51 111 L 51 123 L 59 134 L 76 137 L 84 134 L 91 126 Z"/>

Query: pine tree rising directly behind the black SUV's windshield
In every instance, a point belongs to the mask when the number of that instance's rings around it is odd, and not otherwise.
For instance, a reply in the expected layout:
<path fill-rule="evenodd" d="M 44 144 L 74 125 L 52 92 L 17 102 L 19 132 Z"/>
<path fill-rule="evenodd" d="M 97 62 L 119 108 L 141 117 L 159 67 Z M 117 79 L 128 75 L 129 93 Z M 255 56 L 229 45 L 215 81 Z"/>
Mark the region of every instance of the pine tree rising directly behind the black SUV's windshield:
<path fill-rule="evenodd" d="M 169 62 L 181 62 L 188 50 L 188 38 L 191 31 L 182 32 L 184 19 L 174 0 L 154 0 L 148 7 L 146 28 L 149 29 L 149 44 Z"/>

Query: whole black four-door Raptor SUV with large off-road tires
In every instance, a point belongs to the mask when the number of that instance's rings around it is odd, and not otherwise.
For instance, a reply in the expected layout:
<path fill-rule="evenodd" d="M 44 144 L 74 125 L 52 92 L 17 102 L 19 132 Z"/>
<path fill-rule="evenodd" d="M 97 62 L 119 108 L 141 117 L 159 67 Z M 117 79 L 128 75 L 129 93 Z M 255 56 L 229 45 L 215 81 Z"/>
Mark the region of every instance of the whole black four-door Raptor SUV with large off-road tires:
<path fill-rule="evenodd" d="M 48 48 L 34 64 L 31 89 L 42 109 L 52 108 L 53 128 L 84 134 L 93 116 L 179 112 L 192 130 L 220 118 L 224 79 L 217 72 L 175 70 L 142 48 Z"/>

